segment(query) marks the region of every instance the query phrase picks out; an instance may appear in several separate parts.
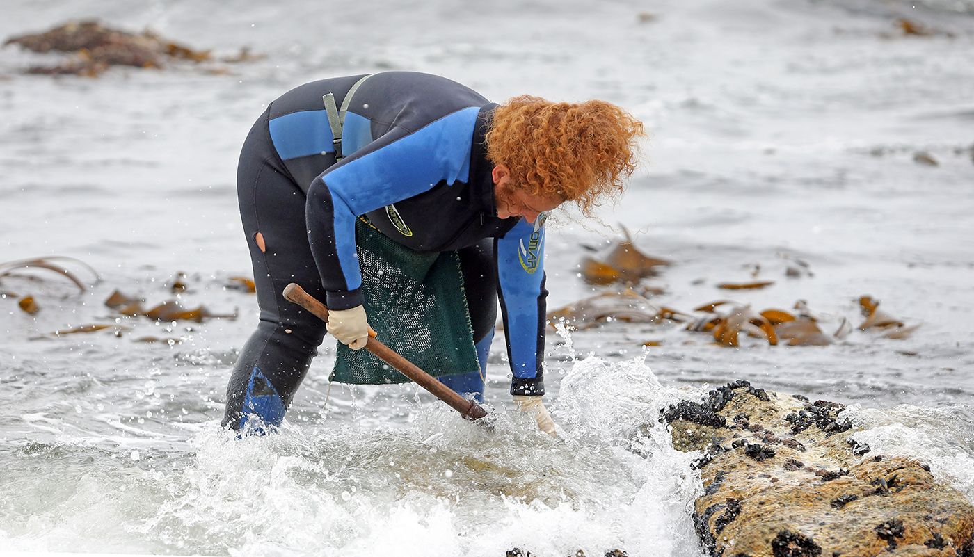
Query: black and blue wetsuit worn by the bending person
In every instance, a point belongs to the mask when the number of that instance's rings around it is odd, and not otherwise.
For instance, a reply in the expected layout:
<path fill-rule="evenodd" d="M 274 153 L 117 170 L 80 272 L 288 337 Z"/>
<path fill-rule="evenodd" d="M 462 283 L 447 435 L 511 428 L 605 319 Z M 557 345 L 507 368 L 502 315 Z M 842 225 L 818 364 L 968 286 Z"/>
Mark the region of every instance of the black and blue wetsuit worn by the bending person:
<path fill-rule="evenodd" d="M 510 391 L 544 392 L 544 215 L 497 217 L 484 140 L 497 105 L 442 77 L 373 75 L 353 94 L 336 163 L 322 95 L 341 103 L 361 77 L 284 93 L 244 142 L 238 196 L 260 322 L 230 379 L 225 426 L 250 415 L 280 425 L 324 337 L 322 321 L 283 299 L 287 283 L 333 310 L 362 303 L 358 215 L 417 251 L 458 250 L 481 372 L 443 383 L 482 396 L 500 298 Z"/>

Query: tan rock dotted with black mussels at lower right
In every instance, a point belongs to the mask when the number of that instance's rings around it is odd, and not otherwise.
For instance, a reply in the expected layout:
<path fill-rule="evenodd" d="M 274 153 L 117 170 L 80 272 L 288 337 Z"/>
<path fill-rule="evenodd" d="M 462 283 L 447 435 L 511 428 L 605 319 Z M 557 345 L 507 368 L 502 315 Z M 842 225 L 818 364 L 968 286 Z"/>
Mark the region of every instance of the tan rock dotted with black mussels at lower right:
<path fill-rule="evenodd" d="M 736 381 L 662 411 L 674 446 L 704 453 L 694 520 L 707 549 L 974 557 L 974 506 L 926 464 L 872 454 L 843 409 Z"/>

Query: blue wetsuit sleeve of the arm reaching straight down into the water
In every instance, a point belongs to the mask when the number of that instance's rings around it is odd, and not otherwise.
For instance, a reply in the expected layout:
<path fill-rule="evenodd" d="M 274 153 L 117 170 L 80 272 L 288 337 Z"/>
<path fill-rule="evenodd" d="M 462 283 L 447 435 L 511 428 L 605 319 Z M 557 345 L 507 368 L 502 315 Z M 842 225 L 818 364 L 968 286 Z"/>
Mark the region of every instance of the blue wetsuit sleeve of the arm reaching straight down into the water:
<path fill-rule="evenodd" d="M 521 219 L 494 241 L 511 394 L 544 394 L 544 217 Z"/>

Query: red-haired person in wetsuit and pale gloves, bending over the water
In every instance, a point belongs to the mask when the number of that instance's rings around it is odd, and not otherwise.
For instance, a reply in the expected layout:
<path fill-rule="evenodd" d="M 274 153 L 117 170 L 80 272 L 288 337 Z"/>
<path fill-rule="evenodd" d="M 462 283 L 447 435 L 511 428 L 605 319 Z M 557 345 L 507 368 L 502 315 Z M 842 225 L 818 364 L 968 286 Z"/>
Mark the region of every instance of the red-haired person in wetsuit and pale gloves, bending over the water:
<path fill-rule="evenodd" d="M 233 369 L 223 425 L 280 426 L 325 332 L 365 346 L 362 274 L 373 270 L 359 261 L 357 227 L 408 253 L 456 253 L 479 369 L 440 380 L 482 399 L 499 300 L 510 393 L 553 434 L 542 401 L 545 216 L 565 202 L 587 214 L 621 192 L 642 133 L 605 101 L 495 104 L 416 72 L 281 95 L 247 135 L 238 168 L 260 320 Z M 283 299 L 290 282 L 325 301 L 327 323 Z"/>

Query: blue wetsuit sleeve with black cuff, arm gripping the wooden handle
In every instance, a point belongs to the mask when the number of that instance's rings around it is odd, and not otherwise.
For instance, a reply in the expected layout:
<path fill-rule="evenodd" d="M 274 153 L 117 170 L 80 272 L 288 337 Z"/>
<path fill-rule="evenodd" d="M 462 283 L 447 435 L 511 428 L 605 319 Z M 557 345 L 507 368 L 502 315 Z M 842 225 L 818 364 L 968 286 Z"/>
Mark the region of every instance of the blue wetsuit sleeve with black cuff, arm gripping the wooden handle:
<path fill-rule="evenodd" d="M 315 178 L 305 217 L 329 308 L 347 310 L 362 303 L 358 215 L 419 195 L 442 181 L 468 181 L 477 112 L 465 108 L 415 131 L 393 128 Z"/>

